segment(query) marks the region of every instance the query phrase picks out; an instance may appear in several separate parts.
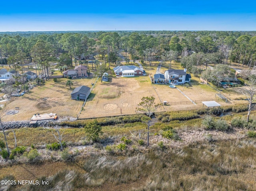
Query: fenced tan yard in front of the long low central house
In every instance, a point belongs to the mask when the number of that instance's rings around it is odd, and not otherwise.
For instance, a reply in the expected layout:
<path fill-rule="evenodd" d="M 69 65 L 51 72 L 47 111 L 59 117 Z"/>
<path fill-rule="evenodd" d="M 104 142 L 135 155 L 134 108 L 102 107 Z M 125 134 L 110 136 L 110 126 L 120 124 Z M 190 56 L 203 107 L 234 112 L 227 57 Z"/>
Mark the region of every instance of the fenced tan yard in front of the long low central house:
<path fill-rule="evenodd" d="M 104 92 L 110 92 L 105 91 L 106 87 L 115 92 L 118 89 L 118 96 L 108 98 L 108 95 L 103 95 Z M 115 96 L 113 92 L 110 94 Z M 141 98 L 146 96 L 154 96 L 156 104 L 160 103 L 148 76 L 110 78 L 110 82 L 102 83 L 98 81 L 79 118 L 116 116 L 121 111 L 122 114 L 135 114 Z"/>

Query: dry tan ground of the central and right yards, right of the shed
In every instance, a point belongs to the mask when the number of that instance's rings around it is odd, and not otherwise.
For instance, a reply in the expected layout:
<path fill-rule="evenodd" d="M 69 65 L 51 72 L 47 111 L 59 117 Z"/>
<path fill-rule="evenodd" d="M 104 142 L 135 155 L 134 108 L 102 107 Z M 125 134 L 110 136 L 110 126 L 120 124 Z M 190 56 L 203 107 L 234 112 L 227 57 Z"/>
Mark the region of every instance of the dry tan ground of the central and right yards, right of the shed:
<path fill-rule="evenodd" d="M 136 107 L 141 102 L 143 96 L 154 96 L 156 103 L 167 101 L 168 104 L 162 106 L 157 111 L 189 110 L 202 108 L 202 101 L 215 100 L 223 106 L 230 104 L 244 103 L 232 98 L 241 97 L 238 91 L 232 90 L 231 100 L 224 102 L 215 97 L 216 90 L 198 82 L 186 88 L 183 85 L 177 86 L 191 100 L 182 95 L 178 89 L 169 88 L 168 85 L 151 84 L 148 76 L 144 77 L 118 77 L 112 78 L 110 82 L 100 81 L 92 91 L 84 106 L 84 110 L 79 118 L 95 118 L 103 116 L 117 116 L 121 114 L 136 114 Z M 234 96 L 235 95 L 235 96 Z"/>

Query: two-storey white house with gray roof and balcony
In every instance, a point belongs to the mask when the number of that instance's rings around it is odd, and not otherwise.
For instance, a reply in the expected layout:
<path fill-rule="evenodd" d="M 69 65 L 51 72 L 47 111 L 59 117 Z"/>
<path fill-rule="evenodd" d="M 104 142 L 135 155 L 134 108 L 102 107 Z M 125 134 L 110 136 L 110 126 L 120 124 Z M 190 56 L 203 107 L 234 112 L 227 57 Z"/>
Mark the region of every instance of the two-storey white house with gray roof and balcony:
<path fill-rule="evenodd" d="M 164 73 L 166 81 L 170 84 L 184 84 L 186 82 L 190 83 L 191 75 L 186 73 L 186 68 L 184 70 L 169 69 Z"/>

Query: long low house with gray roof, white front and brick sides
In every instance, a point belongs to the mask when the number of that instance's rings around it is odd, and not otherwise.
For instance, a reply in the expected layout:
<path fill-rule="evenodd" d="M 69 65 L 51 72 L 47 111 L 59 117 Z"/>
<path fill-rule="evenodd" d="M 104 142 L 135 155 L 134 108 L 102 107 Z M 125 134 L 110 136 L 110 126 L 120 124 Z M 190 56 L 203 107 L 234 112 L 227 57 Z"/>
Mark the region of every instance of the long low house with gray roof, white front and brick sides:
<path fill-rule="evenodd" d="M 136 66 L 117 66 L 113 70 L 117 77 L 134 77 L 143 75 L 142 69 Z"/>

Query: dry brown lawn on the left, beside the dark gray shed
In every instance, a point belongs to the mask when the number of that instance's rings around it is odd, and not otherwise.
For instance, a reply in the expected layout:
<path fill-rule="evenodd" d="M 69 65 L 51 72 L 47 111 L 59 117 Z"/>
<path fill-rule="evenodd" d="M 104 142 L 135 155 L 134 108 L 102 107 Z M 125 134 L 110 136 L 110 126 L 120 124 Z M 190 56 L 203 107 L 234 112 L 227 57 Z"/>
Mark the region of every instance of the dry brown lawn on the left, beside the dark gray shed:
<path fill-rule="evenodd" d="M 4 111 L 15 110 L 15 107 L 19 107 L 20 110 L 14 115 L 4 115 L 2 120 L 30 120 L 35 113 L 56 113 L 58 116 L 76 117 L 83 101 L 72 100 L 70 93 L 81 85 L 91 87 L 91 83 L 95 80 L 95 78 L 72 80 L 73 86 L 70 89 L 66 87 L 67 79 L 58 79 L 57 83 L 50 79 L 45 85 L 34 87 L 23 96 L 13 97 L 6 104 Z"/>

